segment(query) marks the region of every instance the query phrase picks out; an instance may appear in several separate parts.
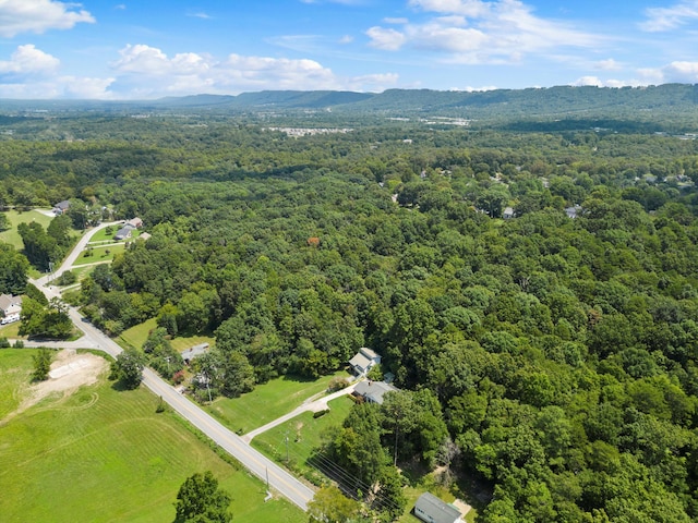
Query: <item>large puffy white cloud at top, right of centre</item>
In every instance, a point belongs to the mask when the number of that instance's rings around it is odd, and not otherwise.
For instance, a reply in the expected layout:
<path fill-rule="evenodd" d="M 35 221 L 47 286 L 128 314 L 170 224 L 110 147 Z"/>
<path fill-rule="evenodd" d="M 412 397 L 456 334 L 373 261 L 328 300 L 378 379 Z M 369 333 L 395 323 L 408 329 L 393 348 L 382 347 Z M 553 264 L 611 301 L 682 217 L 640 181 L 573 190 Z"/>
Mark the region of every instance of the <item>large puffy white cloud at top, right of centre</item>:
<path fill-rule="evenodd" d="M 372 47 L 398 50 L 406 46 L 448 54 L 449 63 L 510 63 L 527 53 L 559 48 L 594 48 L 601 37 L 571 25 L 532 14 L 520 0 L 410 0 L 425 13 L 420 23 L 400 32 L 381 26 L 366 35 Z"/>

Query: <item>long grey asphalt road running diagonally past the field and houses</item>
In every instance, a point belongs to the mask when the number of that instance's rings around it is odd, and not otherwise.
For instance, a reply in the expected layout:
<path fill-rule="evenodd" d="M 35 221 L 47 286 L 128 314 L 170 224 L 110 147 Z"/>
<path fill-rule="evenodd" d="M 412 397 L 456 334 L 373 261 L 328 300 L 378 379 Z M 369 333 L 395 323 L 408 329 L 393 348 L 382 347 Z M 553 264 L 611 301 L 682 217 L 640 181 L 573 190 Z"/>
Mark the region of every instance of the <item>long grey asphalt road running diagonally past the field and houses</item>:
<path fill-rule="evenodd" d="M 75 246 L 71 255 L 65 258 L 65 262 L 63 262 L 61 267 L 53 273 L 60 275 L 64 270 L 69 269 L 89 241 L 89 238 L 92 238 L 92 235 L 99 229 L 108 227 L 109 224 L 110 223 L 103 223 L 100 227 L 88 231 L 80 240 L 80 243 Z M 50 285 L 44 287 L 48 282 L 47 277 L 31 281 L 40 289 L 49 300 L 55 296 L 60 296 L 60 292 L 57 289 L 53 289 Z M 112 357 L 117 357 L 117 355 L 122 352 L 122 349 L 113 340 L 88 321 L 85 321 L 83 316 L 75 308 L 69 307 L 68 314 L 73 320 L 73 324 L 75 324 L 75 326 L 85 335 L 80 340 L 81 346 L 100 350 Z M 308 510 L 308 502 L 313 499 L 315 494 L 313 489 L 246 445 L 240 436 L 224 427 L 219 422 L 210 416 L 210 414 L 177 392 L 171 385 L 149 368 L 146 368 L 143 372 L 143 385 L 151 389 L 151 391 L 156 396 L 161 397 L 163 400 L 184 419 L 208 436 L 230 455 L 242 463 L 242 465 L 255 476 L 265 483 L 268 482 L 272 489 L 288 498 L 302 510 Z"/>

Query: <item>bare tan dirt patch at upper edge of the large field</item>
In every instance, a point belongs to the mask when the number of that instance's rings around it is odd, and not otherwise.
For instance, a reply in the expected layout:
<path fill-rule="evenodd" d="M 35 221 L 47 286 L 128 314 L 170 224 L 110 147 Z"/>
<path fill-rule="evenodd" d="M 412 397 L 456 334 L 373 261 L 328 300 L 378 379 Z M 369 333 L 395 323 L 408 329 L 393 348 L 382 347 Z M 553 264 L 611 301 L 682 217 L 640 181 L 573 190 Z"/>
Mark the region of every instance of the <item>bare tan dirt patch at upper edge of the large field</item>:
<path fill-rule="evenodd" d="M 50 394 L 59 393 L 65 399 L 83 385 L 96 384 L 108 366 L 105 358 L 94 354 L 77 354 L 73 349 L 59 351 L 51 364 L 49 379 L 32 386 L 28 397 L 12 415 L 26 411 Z"/>

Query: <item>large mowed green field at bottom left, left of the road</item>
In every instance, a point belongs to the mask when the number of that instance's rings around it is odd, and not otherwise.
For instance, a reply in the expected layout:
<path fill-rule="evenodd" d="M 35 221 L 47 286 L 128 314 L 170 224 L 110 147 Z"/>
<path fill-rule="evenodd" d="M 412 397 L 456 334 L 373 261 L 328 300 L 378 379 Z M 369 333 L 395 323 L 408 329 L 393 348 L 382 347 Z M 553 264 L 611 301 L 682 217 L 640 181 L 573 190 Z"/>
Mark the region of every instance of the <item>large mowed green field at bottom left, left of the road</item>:
<path fill-rule="evenodd" d="M 3 417 L 16 408 L 13 391 L 22 390 L 32 354 L 0 351 Z M 284 499 L 265 503 L 262 482 L 220 459 L 173 414 L 157 414 L 157 402 L 143 388 L 117 391 L 103 379 L 0 422 L 0 519 L 171 522 L 181 484 L 209 470 L 232 495 L 236 521 L 306 521 Z"/>

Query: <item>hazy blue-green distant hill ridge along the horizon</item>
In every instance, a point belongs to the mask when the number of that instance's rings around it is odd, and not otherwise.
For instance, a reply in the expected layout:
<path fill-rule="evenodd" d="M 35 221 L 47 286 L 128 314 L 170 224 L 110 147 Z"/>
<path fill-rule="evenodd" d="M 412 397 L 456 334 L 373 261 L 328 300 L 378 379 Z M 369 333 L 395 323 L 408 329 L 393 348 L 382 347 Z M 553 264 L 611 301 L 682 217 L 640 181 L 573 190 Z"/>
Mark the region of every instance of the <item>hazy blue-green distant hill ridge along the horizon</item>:
<path fill-rule="evenodd" d="M 603 126 L 610 120 L 622 120 L 640 124 L 643 132 L 662 131 L 671 126 L 694 132 L 698 127 L 698 85 L 623 88 L 558 86 L 473 93 L 430 89 L 388 89 L 378 94 L 263 90 L 237 96 L 201 94 L 143 101 L 0 100 L 0 113 L 13 117 L 35 118 L 45 112 L 63 111 L 204 111 L 212 114 L 285 113 L 290 117 L 300 111 L 332 113 L 317 118 L 348 119 L 366 115 L 409 119 L 441 117 L 503 127 L 517 122 L 519 130 L 527 127 L 530 122 L 544 123 L 540 130 L 564 130 Z M 658 121 L 662 121 L 665 127 L 653 126 Z M 444 122 L 435 122 L 438 123 Z"/>

